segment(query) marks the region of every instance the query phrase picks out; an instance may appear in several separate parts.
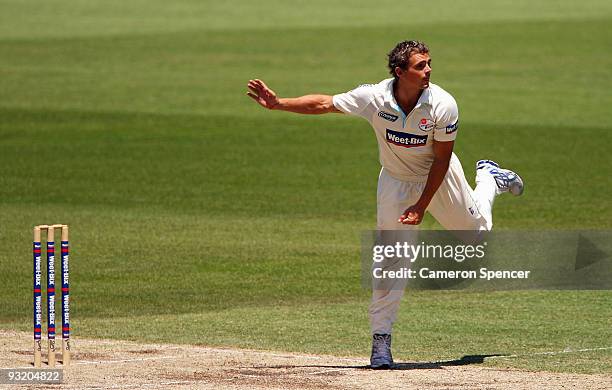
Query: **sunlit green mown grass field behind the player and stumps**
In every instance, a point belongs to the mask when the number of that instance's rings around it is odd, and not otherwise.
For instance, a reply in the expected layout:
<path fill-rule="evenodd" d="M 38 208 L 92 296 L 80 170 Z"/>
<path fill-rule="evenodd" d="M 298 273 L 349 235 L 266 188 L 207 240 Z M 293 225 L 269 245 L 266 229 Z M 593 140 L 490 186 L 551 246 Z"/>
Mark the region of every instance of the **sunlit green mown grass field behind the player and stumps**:
<path fill-rule="evenodd" d="M 31 329 L 31 228 L 59 222 L 77 338 L 369 356 L 373 133 L 246 82 L 343 92 L 403 39 L 459 103 L 468 178 L 494 158 L 527 183 L 496 229 L 612 228 L 609 1 L 235 3 L 2 2 L 0 328 Z M 610 373 L 610 349 L 529 354 L 610 347 L 611 318 L 609 291 L 411 292 L 394 354 Z"/>

